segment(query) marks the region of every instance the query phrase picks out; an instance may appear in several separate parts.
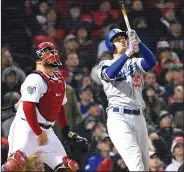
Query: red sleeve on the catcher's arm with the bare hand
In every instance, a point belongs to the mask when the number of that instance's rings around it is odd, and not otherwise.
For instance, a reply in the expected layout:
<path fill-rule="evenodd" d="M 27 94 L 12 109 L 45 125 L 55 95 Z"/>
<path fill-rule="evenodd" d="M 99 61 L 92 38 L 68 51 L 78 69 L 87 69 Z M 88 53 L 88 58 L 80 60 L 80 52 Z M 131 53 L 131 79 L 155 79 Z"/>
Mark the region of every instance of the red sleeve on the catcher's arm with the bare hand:
<path fill-rule="evenodd" d="M 36 104 L 33 102 L 23 102 L 23 111 L 26 116 L 26 120 L 30 125 L 31 129 L 34 131 L 36 135 L 41 134 L 42 130 L 38 124 L 37 116 L 36 116 Z"/>

